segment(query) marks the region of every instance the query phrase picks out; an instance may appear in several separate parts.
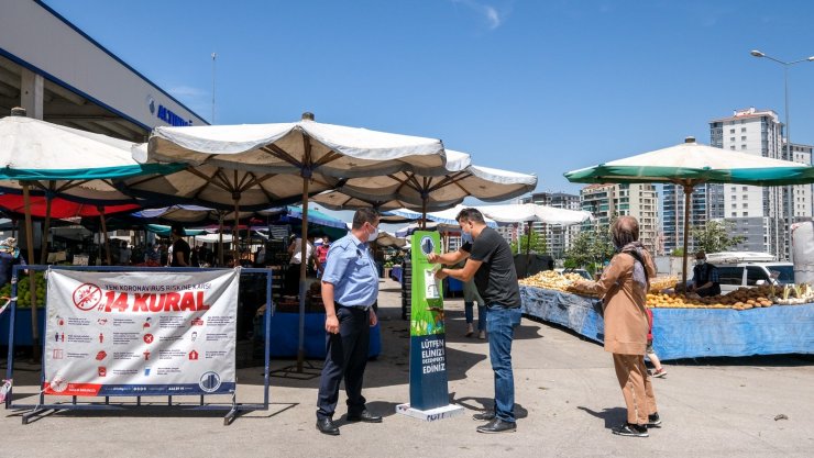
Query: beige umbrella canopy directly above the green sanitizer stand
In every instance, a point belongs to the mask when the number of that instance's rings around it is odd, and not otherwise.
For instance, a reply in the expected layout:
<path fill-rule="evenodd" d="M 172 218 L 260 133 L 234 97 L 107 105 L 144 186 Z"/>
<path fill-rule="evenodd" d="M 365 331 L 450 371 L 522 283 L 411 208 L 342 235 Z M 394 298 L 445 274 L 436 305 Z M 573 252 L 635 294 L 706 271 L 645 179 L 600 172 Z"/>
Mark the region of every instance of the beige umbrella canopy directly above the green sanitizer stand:
<path fill-rule="evenodd" d="M 351 178 L 337 192 L 361 201 L 407 203 L 402 208 L 420 209 L 421 213 L 427 214 L 433 208 L 443 210 L 454 206 L 468 197 L 501 202 L 532 191 L 536 187 L 537 177 L 534 175 L 475 166 L 469 154 L 447 149 L 443 169 L 403 170 L 364 179 Z M 389 208 L 392 205 L 388 204 Z"/>

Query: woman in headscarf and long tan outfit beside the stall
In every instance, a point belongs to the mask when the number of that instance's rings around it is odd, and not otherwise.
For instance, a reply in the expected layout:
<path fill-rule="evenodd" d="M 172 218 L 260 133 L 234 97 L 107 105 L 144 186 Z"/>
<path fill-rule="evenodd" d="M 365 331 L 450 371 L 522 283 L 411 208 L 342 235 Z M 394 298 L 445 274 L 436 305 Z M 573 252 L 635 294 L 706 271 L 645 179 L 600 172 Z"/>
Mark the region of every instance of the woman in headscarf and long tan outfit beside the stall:
<path fill-rule="evenodd" d="M 582 281 L 579 287 L 603 297 L 605 351 L 614 355 L 616 377 L 627 405 L 627 422 L 613 433 L 647 437 L 648 426 L 661 423 L 645 366 L 649 329 L 645 302 L 656 267 L 639 242 L 635 217 L 619 216 L 610 232 L 616 255 L 598 281 Z"/>

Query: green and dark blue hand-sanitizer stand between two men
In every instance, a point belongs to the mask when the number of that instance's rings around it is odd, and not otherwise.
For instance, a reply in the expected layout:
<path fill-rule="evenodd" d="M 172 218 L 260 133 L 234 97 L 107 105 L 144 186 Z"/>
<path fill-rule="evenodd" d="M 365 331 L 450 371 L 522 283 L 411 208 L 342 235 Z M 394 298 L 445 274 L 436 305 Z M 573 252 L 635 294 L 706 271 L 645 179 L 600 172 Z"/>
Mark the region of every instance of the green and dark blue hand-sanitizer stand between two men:
<path fill-rule="evenodd" d="M 440 265 L 427 255 L 440 252 L 437 232 L 415 232 L 410 310 L 410 406 L 421 411 L 449 404 L 443 291 L 436 280 Z"/>

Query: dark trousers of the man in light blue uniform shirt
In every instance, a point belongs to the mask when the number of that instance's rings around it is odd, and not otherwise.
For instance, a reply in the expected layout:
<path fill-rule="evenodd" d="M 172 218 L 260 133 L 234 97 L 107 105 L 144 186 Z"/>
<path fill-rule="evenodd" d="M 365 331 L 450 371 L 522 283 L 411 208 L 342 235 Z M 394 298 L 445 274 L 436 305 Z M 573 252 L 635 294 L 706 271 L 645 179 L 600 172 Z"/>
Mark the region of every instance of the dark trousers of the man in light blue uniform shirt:
<path fill-rule="evenodd" d="M 337 306 L 339 334 L 326 337 L 327 355 L 319 382 L 317 418 L 330 418 L 339 401 L 339 383 L 344 377 L 348 414 L 359 415 L 365 409 L 362 379 L 370 346 L 370 312 L 359 308 Z"/>

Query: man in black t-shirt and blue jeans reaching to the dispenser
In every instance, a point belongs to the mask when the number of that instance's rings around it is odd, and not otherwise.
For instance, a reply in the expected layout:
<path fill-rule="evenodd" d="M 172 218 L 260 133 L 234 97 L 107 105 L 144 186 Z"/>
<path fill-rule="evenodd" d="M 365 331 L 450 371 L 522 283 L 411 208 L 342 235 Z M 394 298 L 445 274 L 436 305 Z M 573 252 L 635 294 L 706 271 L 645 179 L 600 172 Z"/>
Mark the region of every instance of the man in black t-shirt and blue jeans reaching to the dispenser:
<path fill-rule="evenodd" d="M 427 256 L 430 262 L 454 265 L 466 260 L 461 269 L 440 269 L 436 277 L 452 277 L 461 281 L 474 278 L 477 292 L 485 300 L 486 329 L 490 333 L 490 359 L 495 372 L 494 411 L 473 416 L 487 421 L 479 433 L 517 431 L 515 422 L 515 378 L 512 370 L 512 340 L 520 324 L 520 288 L 517 283 L 512 248 L 497 231 L 486 226 L 476 209 L 464 209 L 455 217 L 461 231 L 472 235 L 457 252 Z"/>

